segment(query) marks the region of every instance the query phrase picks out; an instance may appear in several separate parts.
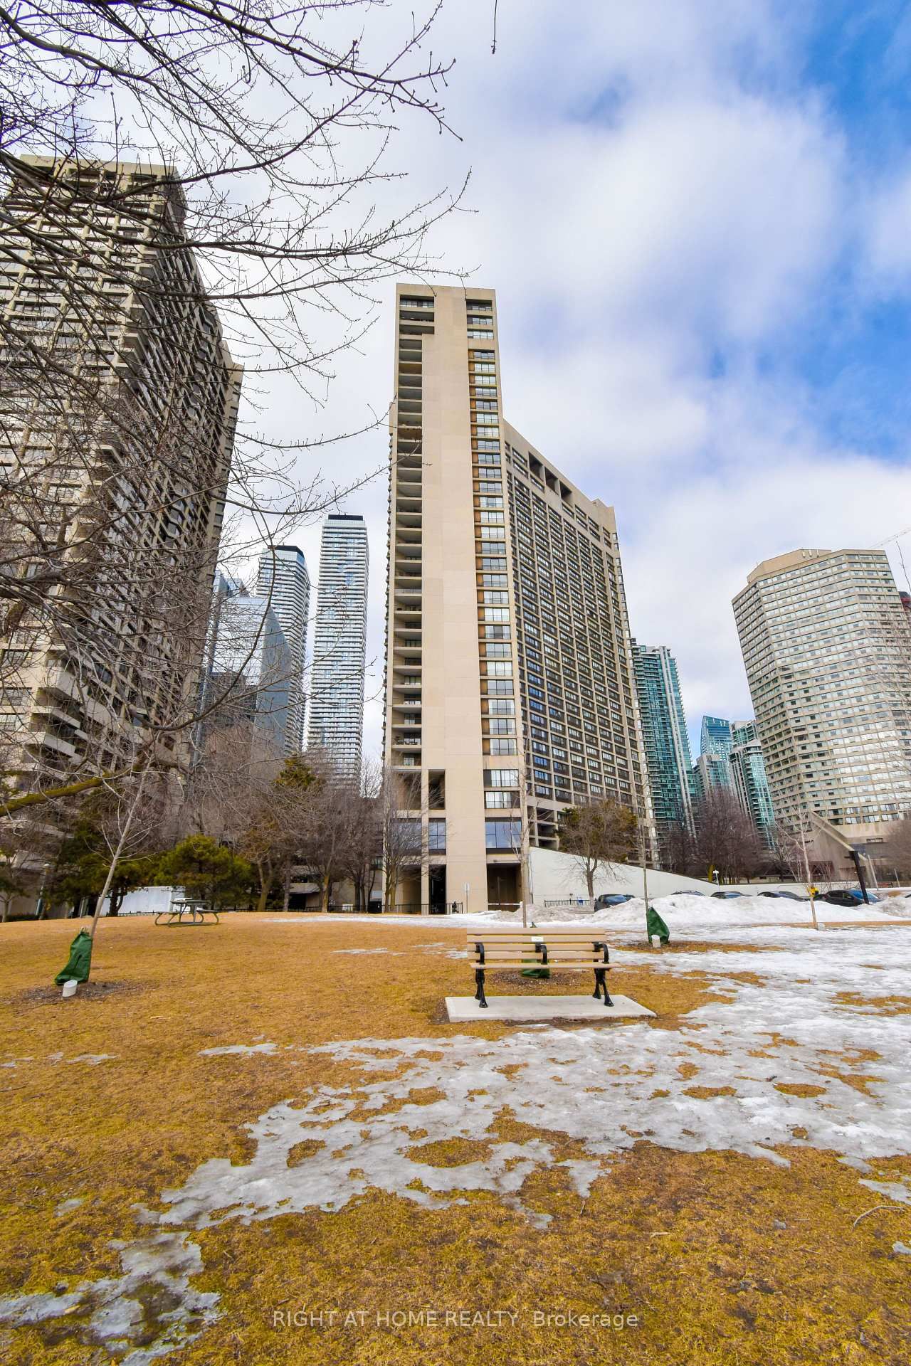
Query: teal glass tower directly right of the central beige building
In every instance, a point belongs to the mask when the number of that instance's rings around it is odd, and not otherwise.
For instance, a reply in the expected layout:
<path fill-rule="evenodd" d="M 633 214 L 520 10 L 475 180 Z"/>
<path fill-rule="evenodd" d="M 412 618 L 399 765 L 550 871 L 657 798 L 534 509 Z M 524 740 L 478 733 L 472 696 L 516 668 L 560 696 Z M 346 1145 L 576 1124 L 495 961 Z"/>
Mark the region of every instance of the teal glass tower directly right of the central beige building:
<path fill-rule="evenodd" d="M 671 650 L 634 641 L 632 654 L 654 824 L 661 840 L 669 826 L 692 826 L 690 738 Z"/>

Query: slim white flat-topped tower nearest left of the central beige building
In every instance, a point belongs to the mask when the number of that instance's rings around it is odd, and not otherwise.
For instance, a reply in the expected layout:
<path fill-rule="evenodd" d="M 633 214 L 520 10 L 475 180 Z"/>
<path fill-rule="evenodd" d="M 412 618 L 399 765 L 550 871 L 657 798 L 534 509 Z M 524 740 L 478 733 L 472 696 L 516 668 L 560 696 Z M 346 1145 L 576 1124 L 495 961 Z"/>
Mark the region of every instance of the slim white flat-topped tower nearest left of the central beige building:
<path fill-rule="evenodd" d="M 339 773 L 355 780 L 363 750 L 367 574 L 363 518 L 331 512 L 320 542 L 307 749 L 324 750 Z"/>

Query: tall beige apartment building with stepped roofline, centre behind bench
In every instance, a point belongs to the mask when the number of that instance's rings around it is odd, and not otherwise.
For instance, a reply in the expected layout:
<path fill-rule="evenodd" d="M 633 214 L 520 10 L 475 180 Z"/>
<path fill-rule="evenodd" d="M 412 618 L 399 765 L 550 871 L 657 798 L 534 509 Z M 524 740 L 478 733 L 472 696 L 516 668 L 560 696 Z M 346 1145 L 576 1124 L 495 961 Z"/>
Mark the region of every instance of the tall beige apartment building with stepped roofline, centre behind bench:
<path fill-rule="evenodd" d="M 650 825 L 613 508 L 503 415 L 496 295 L 396 292 L 385 762 L 399 906 L 531 899 L 530 847 L 611 796 Z"/>

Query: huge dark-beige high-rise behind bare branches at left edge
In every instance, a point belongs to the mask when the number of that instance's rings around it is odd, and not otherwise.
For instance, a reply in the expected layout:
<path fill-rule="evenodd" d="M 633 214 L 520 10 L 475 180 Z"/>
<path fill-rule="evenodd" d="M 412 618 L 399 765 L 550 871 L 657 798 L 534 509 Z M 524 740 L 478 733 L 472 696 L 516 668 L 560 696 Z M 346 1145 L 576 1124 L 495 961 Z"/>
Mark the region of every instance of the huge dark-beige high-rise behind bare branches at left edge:
<path fill-rule="evenodd" d="M 165 167 L 27 157 L 4 194 L 0 540 L 36 593 L 0 639 L 0 729 L 23 783 L 116 766 L 198 695 L 240 370 L 184 213 Z"/>

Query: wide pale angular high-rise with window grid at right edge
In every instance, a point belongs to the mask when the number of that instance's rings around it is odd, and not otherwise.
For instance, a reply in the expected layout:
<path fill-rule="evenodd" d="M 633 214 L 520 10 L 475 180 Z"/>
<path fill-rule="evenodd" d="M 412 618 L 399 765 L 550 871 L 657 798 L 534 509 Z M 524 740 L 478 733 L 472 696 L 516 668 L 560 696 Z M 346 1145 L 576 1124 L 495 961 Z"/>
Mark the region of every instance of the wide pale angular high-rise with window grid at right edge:
<path fill-rule="evenodd" d="M 911 811 L 911 637 L 884 550 L 792 550 L 733 600 L 776 820 L 875 843 Z"/>

